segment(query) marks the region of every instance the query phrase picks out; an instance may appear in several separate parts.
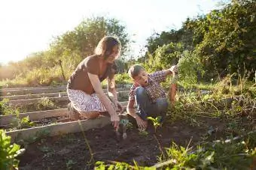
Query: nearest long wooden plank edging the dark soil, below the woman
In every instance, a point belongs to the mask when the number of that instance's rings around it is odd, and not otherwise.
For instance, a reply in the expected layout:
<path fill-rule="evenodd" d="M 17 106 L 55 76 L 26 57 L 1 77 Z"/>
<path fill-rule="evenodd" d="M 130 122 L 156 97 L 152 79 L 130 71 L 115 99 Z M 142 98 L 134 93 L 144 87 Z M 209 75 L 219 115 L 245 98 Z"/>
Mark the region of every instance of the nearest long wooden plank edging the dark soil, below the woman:
<path fill-rule="evenodd" d="M 37 136 L 40 132 L 49 132 L 48 136 L 57 136 L 67 133 L 78 133 L 94 128 L 105 127 L 111 124 L 110 118 L 99 117 L 96 119 L 71 121 L 67 123 L 49 124 L 43 127 L 32 127 L 24 130 L 14 130 L 7 132 L 6 135 L 11 136 L 11 141 L 14 142 L 20 139 L 29 139 Z"/>

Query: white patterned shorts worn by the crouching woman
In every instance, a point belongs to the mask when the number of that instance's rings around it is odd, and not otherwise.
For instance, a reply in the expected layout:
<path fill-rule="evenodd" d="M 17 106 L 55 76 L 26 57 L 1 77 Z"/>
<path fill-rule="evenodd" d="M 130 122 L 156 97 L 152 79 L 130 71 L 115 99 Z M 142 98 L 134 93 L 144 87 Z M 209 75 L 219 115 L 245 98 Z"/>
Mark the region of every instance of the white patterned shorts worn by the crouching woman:
<path fill-rule="evenodd" d="M 68 88 L 67 94 L 72 106 L 78 112 L 106 112 L 105 106 L 95 93 L 86 94 L 84 91 Z"/>

